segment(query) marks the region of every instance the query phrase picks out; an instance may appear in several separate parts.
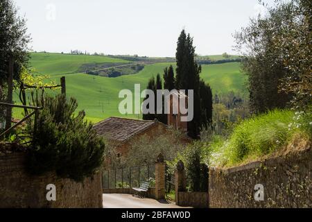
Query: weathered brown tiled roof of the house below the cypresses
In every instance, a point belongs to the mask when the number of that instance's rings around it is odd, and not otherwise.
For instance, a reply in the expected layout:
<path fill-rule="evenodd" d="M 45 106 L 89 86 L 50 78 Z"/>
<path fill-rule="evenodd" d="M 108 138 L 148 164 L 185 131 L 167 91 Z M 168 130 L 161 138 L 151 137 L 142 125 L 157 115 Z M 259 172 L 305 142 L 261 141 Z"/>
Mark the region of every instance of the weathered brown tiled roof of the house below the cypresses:
<path fill-rule="evenodd" d="M 110 117 L 96 123 L 93 128 L 98 135 L 123 142 L 142 130 L 150 128 L 154 124 L 155 121 Z"/>

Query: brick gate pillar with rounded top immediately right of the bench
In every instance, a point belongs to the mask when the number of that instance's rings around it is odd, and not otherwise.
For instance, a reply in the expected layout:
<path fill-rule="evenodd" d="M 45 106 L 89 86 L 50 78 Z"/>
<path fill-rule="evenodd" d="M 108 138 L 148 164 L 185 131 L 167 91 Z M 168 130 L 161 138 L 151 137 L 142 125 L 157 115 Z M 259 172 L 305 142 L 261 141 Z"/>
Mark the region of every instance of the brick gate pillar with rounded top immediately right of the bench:
<path fill-rule="evenodd" d="M 165 198 L 166 192 L 166 163 L 164 156 L 160 153 L 157 156 L 155 164 L 155 199 L 160 200 Z"/>

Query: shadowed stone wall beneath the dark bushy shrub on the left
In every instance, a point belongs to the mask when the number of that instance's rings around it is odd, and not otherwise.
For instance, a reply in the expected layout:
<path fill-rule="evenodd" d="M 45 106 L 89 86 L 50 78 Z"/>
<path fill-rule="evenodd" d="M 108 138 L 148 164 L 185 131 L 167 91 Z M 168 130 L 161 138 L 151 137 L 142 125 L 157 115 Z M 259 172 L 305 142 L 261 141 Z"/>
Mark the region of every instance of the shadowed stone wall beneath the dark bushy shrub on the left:
<path fill-rule="evenodd" d="M 24 153 L 0 155 L 0 207 L 103 207 L 101 173 L 83 182 L 57 178 L 55 173 L 31 176 Z M 46 185 L 56 187 L 56 201 L 46 200 Z"/>

